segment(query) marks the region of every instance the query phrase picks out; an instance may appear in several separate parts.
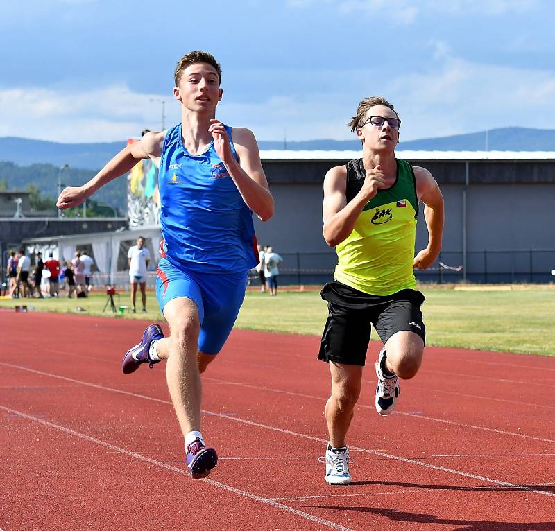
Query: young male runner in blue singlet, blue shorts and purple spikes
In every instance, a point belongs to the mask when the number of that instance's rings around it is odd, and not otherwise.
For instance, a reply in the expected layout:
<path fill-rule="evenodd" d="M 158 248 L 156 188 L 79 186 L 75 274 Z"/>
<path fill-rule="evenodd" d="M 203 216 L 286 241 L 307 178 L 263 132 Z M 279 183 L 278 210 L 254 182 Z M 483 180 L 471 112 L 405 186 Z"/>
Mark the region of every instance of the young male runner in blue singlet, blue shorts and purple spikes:
<path fill-rule="evenodd" d="M 169 394 L 185 437 L 194 478 L 216 466 L 200 433 L 200 373 L 228 338 L 243 301 L 248 271 L 258 261 L 252 211 L 266 221 L 273 198 L 252 132 L 215 119 L 222 98 L 221 68 L 210 53 L 185 54 L 173 94 L 181 123 L 148 132 L 121 150 L 84 186 L 67 188 L 59 208 L 74 207 L 150 157 L 160 168 L 162 259 L 156 295 L 171 336 L 151 324 L 123 358 L 123 372 L 167 360 Z"/>

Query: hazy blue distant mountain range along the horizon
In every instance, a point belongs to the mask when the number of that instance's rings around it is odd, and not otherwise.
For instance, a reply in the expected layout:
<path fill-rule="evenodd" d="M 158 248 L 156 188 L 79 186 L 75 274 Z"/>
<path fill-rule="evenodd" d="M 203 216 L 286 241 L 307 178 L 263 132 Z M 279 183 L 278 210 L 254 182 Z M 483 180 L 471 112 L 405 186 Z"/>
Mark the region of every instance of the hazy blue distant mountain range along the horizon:
<path fill-rule="evenodd" d="M 126 141 L 109 143 L 58 143 L 19 137 L 0 138 L 0 161 L 18 166 L 52 164 L 98 170 Z M 353 140 L 259 141 L 261 150 L 359 150 Z M 398 150 L 418 151 L 555 151 L 555 130 L 500 128 L 488 132 L 400 142 Z"/>

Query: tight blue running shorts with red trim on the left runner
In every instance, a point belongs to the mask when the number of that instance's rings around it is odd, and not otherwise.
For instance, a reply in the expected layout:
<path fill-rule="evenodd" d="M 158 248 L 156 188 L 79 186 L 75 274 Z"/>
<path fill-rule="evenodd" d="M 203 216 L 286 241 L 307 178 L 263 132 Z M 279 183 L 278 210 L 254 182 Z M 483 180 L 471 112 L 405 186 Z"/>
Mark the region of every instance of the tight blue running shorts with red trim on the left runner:
<path fill-rule="evenodd" d="M 156 271 L 156 298 L 160 311 L 178 297 L 195 302 L 200 317 L 198 349 L 216 355 L 231 333 L 247 287 L 248 271 L 200 273 L 176 268 L 162 258 Z"/>

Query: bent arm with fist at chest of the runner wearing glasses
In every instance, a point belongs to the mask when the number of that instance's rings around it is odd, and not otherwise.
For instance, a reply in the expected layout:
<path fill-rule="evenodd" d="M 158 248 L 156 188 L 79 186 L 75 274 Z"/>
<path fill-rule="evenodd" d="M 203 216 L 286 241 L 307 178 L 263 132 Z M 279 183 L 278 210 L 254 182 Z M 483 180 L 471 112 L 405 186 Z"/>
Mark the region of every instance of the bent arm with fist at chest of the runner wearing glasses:
<path fill-rule="evenodd" d="M 384 181 L 384 173 L 380 166 L 367 170 L 359 193 L 347 202 L 347 167 L 335 166 L 326 173 L 322 232 L 327 245 L 335 247 L 351 234 L 362 209 L 376 195 L 378 189 L 384 187 Z"/>

